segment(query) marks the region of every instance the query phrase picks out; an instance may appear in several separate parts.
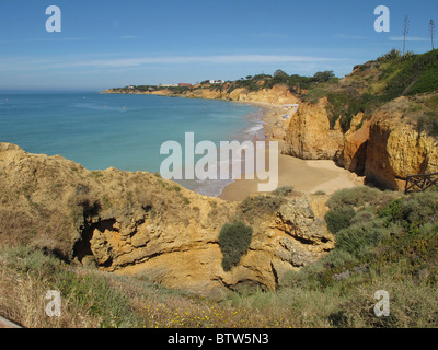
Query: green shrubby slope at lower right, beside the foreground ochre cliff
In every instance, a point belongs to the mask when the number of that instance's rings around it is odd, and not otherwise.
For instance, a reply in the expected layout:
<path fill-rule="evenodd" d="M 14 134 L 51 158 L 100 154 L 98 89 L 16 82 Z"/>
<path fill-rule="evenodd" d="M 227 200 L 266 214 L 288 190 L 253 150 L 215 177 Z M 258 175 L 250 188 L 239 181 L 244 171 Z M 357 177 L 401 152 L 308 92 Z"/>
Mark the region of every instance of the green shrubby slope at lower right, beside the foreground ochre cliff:
<path fill-rule="evenodd" d="M 335 248 L 289 273 L 283 292 L 323 299 L 319 320 L 332 327 L 437 327 L 437 203 L 434 191 L 405 196 L 358 187 L 335 192 L 330 212 L 344 220 Z M 378 290 L 390 295 L 388 317 L 373 312 Z"/>

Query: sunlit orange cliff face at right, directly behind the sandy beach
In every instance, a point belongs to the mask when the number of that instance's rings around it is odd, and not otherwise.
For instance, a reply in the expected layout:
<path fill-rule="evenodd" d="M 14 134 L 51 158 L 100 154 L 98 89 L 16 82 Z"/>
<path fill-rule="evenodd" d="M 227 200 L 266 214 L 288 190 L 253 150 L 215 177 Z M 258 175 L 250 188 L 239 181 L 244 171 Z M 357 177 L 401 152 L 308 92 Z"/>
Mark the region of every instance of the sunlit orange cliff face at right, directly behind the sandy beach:
<path fill-rule="evenodd" d="M 338 122 L 330 128 L 325 106 L 325 98 L 300 105 L 289 121 L 284 153 L 333 159 L 387 189 L 404 189 L 408 175 L 438 172 L 438 140 L 418 130 L 407 97 L 384 104 L 368 120 L 357 114 L 346 133 Z"/>

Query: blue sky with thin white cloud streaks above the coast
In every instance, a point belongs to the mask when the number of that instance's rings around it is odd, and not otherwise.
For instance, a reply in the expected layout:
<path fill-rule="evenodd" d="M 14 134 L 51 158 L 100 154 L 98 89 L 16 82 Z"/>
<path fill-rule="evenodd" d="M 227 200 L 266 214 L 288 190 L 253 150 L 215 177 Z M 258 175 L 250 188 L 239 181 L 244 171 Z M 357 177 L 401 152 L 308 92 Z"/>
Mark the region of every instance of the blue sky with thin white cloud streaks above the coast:
<path fill-rule="evenodd" d="M 61 32 L 45 28 L 61 10 Z M 390 9 L 377 33 L 374 8 Z M 0 90 L 95 91 L 273 73 L 313 75 L 402 49 L 430 50 L 436 0 L 0 0 Z M 436 33 L 438 47 L 438 33 Z"/>

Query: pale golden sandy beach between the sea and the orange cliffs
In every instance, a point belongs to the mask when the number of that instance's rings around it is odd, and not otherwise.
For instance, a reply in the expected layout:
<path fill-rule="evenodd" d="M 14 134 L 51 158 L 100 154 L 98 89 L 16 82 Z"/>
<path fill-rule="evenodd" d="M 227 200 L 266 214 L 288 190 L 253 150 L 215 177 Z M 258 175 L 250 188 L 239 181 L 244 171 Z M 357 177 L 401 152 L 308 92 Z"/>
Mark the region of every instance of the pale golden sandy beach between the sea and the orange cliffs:
<path fill-rule="evenodd" d="M 265 131 L 273 135 L 275 122 L 281 120 L 281 116 L 287 112 L 278 105 L 256 103 L 263 107 L 263 120 L 266 122 Z M 270 141 L 279 141 L 281 150 L 283 140 L 274 138 Z M 280 151 L 279 151 L 280 152 Z M 249 195 L 257 192 L 260 182 L 255 179 L 238 179 L 228 185 L 219 198 L 229 201 L 240 201 Z M 330 160 L 307 161 L 290 155 L 278 155 L 278 187 L 292 186 L 295 190 L 306 194 L 324 191 L 330 195 L 342 188 L 350 188 L 364 184 L 364 178 L 345 168 L 338 167 L 335 162 Z"/>

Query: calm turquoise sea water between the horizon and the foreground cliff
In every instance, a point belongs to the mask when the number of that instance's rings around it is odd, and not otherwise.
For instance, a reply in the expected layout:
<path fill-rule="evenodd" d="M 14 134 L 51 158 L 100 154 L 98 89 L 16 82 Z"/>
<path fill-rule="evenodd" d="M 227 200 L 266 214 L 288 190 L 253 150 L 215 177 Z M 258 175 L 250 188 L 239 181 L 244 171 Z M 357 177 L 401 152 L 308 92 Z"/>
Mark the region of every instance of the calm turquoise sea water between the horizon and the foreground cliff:
<path fill-rule="evenodd" d="M 253 140 L 262 129 L 261 109 L 224 101 L 154 95 L 2 94 L 0 141 L 30 153 L 60 154 L 89 170 L 159 172 L 164 141 L 195 143 Z M 184 182 L 218 196 L 227 180 Z"/>

